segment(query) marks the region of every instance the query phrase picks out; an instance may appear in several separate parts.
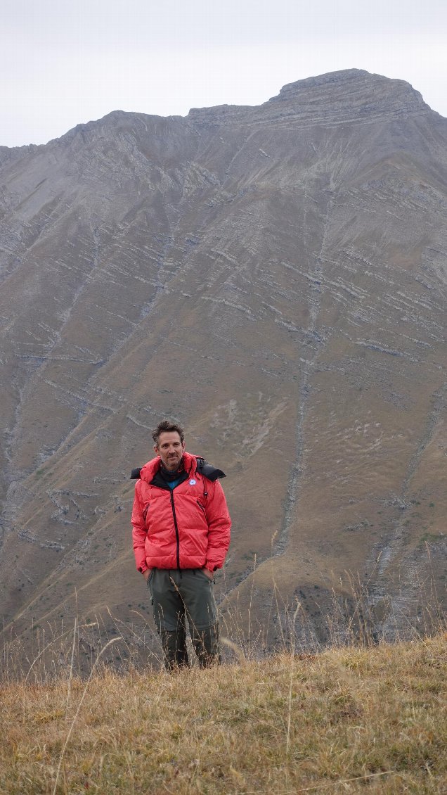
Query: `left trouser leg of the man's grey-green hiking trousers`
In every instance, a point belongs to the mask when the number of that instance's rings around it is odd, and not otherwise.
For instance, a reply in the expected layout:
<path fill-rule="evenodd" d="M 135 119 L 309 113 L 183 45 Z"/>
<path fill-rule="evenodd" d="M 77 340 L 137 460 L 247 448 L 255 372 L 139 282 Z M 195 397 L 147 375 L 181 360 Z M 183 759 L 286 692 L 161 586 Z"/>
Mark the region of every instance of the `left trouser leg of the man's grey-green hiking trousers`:
<path fill-rule="evenodd" d="M 168 569 L 154 568 L 148 578 L 156 628 L 160 634 L 166 669 L 189 665 L 185 606 Z"/>

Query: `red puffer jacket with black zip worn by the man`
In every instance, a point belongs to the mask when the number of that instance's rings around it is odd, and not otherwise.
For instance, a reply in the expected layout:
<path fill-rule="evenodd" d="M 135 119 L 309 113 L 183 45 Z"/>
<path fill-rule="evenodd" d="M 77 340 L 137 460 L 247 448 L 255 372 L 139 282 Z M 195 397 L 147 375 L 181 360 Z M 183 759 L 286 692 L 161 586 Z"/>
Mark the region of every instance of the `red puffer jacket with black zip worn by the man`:
<path fill-rule="evenodd" d="M 148 461 L 135 484 L 133 550 L 140 572 L 147 568 L 221 568 L 229 548 L 231 520 L 217 480 L 200 474 L 197 459 L 183 453 L 188 477 L 174 490 L 152 484 L 160 457 Z"/>

